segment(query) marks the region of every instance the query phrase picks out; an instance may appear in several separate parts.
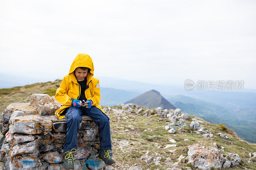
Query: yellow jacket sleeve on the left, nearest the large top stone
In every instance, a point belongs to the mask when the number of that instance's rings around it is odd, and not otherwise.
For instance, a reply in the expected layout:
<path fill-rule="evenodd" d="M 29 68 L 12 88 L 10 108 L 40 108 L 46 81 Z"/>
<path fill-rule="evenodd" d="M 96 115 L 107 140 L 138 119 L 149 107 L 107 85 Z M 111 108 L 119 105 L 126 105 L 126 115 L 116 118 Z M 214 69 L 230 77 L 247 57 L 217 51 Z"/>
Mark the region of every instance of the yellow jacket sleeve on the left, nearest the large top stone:
<path fill-rule="evenodd" d="M 71 106 L 73 98 L 68 96 L 66 78 L 64 77 L 60 87 L 56 90 L 55 99 L 62 105 Z"/>

